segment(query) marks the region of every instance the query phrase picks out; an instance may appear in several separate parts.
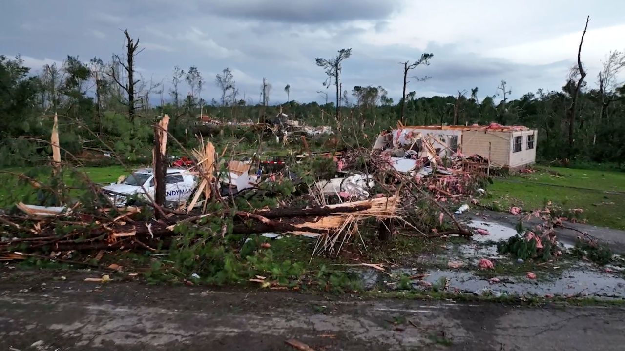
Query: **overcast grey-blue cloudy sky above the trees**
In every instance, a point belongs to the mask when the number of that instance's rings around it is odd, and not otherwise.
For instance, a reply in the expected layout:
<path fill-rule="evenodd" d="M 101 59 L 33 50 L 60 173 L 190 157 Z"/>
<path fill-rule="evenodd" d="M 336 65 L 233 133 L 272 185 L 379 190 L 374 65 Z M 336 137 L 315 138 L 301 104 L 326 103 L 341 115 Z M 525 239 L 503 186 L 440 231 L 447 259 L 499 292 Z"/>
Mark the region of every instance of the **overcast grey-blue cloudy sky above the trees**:
<path fill-rule="evenodd" d="M 68 54 L 108 61 L 123 52 L 120 29 L 128 28 L 145 47 L 136 58 L 144 78 L 167 82 L 174 66 L 197 66 L 211 101 L 219 97 L 215 74 L 230 67 L 254 102 L 267 77 L 276 103 L 286 101 L 286 84 L 291 99 L 321 101 L 326 76 L 314 59 L 344 47 L 352 56 L 343 89 L 381 85 L 397 101 L 397 62 L 432 52 L 431 65 L 414 71 L 432 78 L 409 84 L 417 96 L 477 86 L 481 99 L 505 79 L 519 97 L 564 85 L 586 15 L 582 61 L 595 86 L 606 54 L 625 49 L 624 14 L 622 0 L 0 0 L 0 53 L 21 54 L 34 72 Z"/>

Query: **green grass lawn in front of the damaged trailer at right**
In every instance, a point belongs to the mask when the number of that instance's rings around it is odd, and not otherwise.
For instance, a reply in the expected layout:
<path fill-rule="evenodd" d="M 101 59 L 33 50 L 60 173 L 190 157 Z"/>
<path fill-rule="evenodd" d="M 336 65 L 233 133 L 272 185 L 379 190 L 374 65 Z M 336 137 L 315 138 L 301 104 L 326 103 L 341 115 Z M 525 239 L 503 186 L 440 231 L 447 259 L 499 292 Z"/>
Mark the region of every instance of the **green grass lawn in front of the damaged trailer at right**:
<path fill-rule="evenodd" d="M 537 167 L 536 173 L 495 179 L 488 192 L 482 204 L 501 210 L 539 209 L 551 201 L 584 209 L 588 224 L 625 229 L 625 172 Z"/>

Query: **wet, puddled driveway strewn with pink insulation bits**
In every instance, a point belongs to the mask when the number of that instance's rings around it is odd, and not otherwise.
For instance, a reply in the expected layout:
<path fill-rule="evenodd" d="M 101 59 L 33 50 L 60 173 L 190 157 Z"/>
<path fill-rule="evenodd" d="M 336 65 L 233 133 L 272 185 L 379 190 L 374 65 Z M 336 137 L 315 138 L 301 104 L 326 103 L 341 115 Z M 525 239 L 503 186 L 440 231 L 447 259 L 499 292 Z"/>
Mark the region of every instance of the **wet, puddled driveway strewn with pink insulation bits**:
<path fill-rule="evenodd" d="M 411 288 L 419 290 L 431 290 L 432 286 L 441 289 L 441 286 L 445 285 L 444 290 L 447 292 L 496 297 L 512 295 L 625 299 L 625 275 L 622 259 L 617 255 L 615 258 L 621 265 L 600 267 L 579 259 L 560 259 L 544 265 L 542 262 L 536 262 L 532 269 L 528 266 L 529 262 L 526 264 L 523 260 L 515 260 L 509 255 L 497 253 L 497 242 L 516 235 L 516 229 L 512 225 L 482 219 L 468 219 L 466 225 L 472 229 L 487 230 L 489 234 L 476 234 L 472 240 L 466 242 L 448 243 L 442 253 L 421 255 L 417 259 L 419 267 L 393 267 L 390 274 L 395 277 L 418 276 L 412 280 Z M 563 252 L 573 247 L 569 238 L 559 242 L 559 245 Z M 512 266 L 512 271 L 518 270 L 514 265 L 523 265 L 522 267 L 527 267 L 527 272 L 534 272 L 537 279 L 528 279 L 524 271 L 520 274 L 519 272 L 494 274 L 481 271 L 478 267 L 481 259 L 489 259 L 495 266 Z M 448 265 L 459 267 L 447 268 Z M 398 284 L 391 283 L 393 279 L 389 279 L 388 275 L 379 272 L 361 271 L 361 276 L 366 289 L 399 287 Z"/>

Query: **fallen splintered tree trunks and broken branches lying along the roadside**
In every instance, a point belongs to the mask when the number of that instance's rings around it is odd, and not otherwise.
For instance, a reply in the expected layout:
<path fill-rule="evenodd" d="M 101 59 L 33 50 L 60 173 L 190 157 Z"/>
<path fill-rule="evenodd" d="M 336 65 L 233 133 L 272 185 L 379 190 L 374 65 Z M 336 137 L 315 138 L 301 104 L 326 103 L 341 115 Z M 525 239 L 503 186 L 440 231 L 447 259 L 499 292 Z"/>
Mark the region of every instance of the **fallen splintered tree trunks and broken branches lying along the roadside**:
<path fill-rule="evenodd" d="M 226 215 L 232 215 L 233 234 L 286 232 L 314 235 L 324 242 L 323 247 L 330 249 L 339 239 L 344 242 L 346 237 L 354 234 L 352 231 L 357 222 L 371 217 L 396 217 L 396 200 L 396 197 L 382 197 L 340 205 L 230 214 L 191 215 L 171 211 L 163 219 L 149 220 L 138 219 L 141 217 L 138 207 L 127 207 L 123 213 L 111 217 L 113 210 L 103 210 L 98 215 L 69 210 L 55 214 L 52 210 L 41 212 L 41 209 L 29 206 L 26 216 L 0 215 L 0 259 L 23 259 L 32 252 L 167 248 L 179 235 L 175 230 L 177 225 L 201 227 L 202 219 Z"/>

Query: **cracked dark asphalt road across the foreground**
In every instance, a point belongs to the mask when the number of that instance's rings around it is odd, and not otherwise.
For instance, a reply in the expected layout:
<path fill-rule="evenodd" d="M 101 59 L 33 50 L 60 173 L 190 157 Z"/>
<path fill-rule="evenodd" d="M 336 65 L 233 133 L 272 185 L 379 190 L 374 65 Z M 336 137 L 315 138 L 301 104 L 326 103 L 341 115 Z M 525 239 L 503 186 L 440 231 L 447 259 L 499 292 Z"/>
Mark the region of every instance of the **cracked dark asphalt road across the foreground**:
<path fill-rule="evenodd" d="M 0 350 L 622 350 L 625 309 L 0 276 Z"/>

